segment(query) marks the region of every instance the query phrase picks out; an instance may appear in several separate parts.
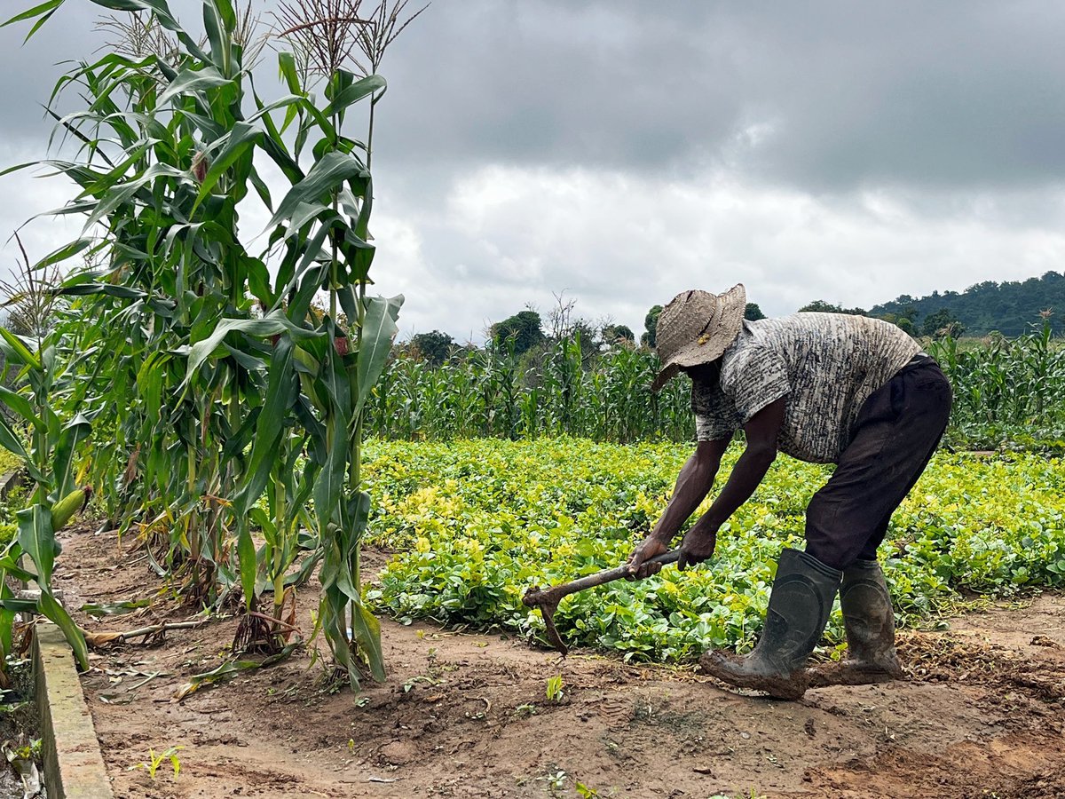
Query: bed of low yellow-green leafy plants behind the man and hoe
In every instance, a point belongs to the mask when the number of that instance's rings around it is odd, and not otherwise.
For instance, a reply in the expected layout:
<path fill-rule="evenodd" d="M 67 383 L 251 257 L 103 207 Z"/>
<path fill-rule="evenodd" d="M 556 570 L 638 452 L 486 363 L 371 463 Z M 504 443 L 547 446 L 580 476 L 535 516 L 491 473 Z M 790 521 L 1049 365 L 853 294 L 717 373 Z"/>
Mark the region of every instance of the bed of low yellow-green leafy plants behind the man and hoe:
<path fill-rule="evenodd" d="M 730 449 L 719 485 L 740 449 Z M 623 561 L 657 520 L 689 454 L 677 444 L 564 438 L 371 442 L 372 540 L 397 554 L 367 599 L 402 619 L 538 636 L 543 624 L 522 605 L 525 590 Z M 721 531 L 712 560 L 572 596 L 555 617 L 560 634 L 662 662 L 710 646 L 749 646 L 776 556 L 802 545 L 806 502 L 830 473 L 779 458 Z M 1059 460 L 940 453 L 896 512 L 881 550 L 900 617 L 929 619 L 956 603 L 958 590 L 1001 596 L 1065 585 L 1063 513 Z M 841 640 L 838 609 L 828 635 Z"/>

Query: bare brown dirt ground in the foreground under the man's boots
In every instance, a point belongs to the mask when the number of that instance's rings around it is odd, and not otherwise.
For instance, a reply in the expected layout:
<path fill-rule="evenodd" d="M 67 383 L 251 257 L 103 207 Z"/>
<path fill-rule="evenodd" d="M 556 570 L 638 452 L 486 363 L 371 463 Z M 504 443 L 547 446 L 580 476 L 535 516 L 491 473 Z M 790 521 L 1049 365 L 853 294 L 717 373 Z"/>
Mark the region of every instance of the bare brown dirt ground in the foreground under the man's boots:
<path fill-rule="evenodd" d="M 56 580 L 71 607 L 160 587 L 143 553 L 77 528 Z M 305 633 L 315 605 L 305 588 Z M 95 632 L 162 618 L 79 621 Z M 904 634 L 906 680 L 799 702 L 389 620 L 389 680 L 359 697 L 325 691 L 301 653 L 173 702 L 190 674 L 222 663 L 234 629 L 94 653 L 82 682 L 117 797 L 1065 797 L 1061 596 Z M 548 701 L 556 675 L 562 696 Z M 169 761 L 154 778 L 137 767 L 168 747 L 181 747 L 179 776 Z"/>

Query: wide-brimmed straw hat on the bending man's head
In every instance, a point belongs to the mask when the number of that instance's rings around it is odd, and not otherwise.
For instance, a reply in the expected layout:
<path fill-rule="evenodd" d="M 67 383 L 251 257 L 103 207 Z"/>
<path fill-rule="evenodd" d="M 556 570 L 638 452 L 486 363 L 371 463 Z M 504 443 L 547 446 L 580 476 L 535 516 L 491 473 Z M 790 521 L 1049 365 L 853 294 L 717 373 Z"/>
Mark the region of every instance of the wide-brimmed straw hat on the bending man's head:
<path fill-rule="evenodd" d="M 721 357 L 736 340 L 747 310 L 747 290 L 737 283 L 724 294 L 683 291 L 662 309 L 655 328 L 655 348 L 662 370 L 651 384 L 658 391 L 684 366 Z"/>

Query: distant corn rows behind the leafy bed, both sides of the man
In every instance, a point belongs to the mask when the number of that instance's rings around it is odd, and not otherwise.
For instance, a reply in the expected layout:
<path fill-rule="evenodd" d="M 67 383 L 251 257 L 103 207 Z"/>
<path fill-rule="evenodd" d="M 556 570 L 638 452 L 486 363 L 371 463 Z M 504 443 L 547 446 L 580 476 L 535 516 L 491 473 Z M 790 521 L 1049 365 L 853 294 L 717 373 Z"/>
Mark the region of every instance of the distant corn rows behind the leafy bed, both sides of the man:
<path fill-rule="evenodd" d="M 1059 441 L 1065 439 L 1065 348 L 1049 325 L 1017 339 L 994 337 L 966 347 L 945 339 L 929 346 L 954 387 L 949 441 L 1065 451 Z M 688 382 L 676 379 L 653 394 L 658 365 L 646 348 L 618 345 L 589 355 L 573 339 L 521 357 L 464 350 L 439 366 L 400 354 L 381 377 L 366 427 L 408 441 L 558 435 L 617 443 L 689 441 L 694 421 Z"/>

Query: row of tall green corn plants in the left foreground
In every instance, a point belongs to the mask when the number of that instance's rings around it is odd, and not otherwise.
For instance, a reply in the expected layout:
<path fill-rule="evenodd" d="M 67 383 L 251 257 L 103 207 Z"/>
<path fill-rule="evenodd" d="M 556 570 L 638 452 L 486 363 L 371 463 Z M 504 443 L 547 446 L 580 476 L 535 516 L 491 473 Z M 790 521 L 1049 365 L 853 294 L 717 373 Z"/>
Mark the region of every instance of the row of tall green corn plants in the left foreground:
<path fill-rule="evenodd" d="M 416 14 L 404 19 L 405 2 L 365 15 L 355 0 L 341 14 L 331 0 L 283 5 L 278 35 L 296 51 L 279 53 L 286 94 L 266 102 L 246 63 L 247 15 L 231 0 L 204 0 L 202 43 L 166 0 L 93 1 L 147 14 L 143 29 L 168 43 L 80 64 L 56 87 L 78 85 L 92 100 L 59 120 L 79 158 L 48 163 L 82 192 L 56 213 L 84 214 L 109 257 L 61 290 L 82 298 L 95 420 L 120 431 L 111 452 L 94 449 L 106 461 L 94 473 L 124 528 L 163 539 L 160 568 L 181 571 L 186 596 L 243 597 L 244 646 L 276 649 L 285 572 L 301 550 L 312 552 L 305 567 L 321 557 L 318 619 L 337 664 L 353 685 L 363 670 L 380 678 L 377 622 L 359 578 L 370 505 L 361 418 L 402 298 L 365 293 L 370 142 L 386 87 L 371 70 Z M 35 19 L 32 35 L 63 2 L 9 21 Z M 357 51 L 362 74 L 347 68 L 359 67 Z M 365 142 L 344 133 L 362 101 Z M 261 159 L 290 183 L 280 201 L 260 177 Z M 247 249 L 240 226 L 252 193 L 273 212 L 261 252 Z M 325 314 L 312 312 L 321 290 Z M 252 524 L 265 538 L 258 551 Z M 263 623 L 267 588 L 274 616 Z"/>

